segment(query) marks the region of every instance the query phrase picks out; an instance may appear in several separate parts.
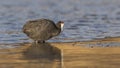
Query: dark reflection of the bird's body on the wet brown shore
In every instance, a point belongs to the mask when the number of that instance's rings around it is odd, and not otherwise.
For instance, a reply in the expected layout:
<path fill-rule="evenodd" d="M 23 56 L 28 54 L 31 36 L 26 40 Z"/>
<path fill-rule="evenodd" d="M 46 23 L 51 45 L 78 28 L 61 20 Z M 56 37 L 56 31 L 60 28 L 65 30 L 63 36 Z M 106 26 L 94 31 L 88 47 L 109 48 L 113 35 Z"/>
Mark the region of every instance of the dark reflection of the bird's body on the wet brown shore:
<path fill-rule="evenodd" d="M 33 43 L 23 52 L 23 56 L 28 60 L 59 60 L 60 50 L 49 43 Z"/>

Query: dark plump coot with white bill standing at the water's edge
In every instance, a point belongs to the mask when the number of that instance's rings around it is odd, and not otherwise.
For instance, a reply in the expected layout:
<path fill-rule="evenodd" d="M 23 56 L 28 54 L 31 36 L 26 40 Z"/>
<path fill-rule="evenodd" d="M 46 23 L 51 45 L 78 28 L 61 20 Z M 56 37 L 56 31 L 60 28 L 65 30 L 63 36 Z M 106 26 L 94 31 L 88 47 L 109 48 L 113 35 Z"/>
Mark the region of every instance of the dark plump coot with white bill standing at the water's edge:
<path fill-rule="evenodd" d="M 55 24 L 49 19 L 37 19 L 28 21 L 23 26 L 23 32 L 35 42 L 45 42 L 45 40 L 59 35 L 63 26 L 63 21 L 58 21 Z"/>

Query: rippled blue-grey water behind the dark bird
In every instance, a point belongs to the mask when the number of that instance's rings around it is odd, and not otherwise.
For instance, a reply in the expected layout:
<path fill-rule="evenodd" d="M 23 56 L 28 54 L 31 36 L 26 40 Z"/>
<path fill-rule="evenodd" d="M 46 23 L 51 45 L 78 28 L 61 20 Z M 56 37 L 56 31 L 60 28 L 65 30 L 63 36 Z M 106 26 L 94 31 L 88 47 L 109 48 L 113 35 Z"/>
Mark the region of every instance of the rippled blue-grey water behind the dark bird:
<path fill-rule="evenodd" d="M 50 42 L 120 36 L 120 0 L 0 0 L 0 43 L 31 42 L 21 29 L 39 18 L 65 21 Z"/>

